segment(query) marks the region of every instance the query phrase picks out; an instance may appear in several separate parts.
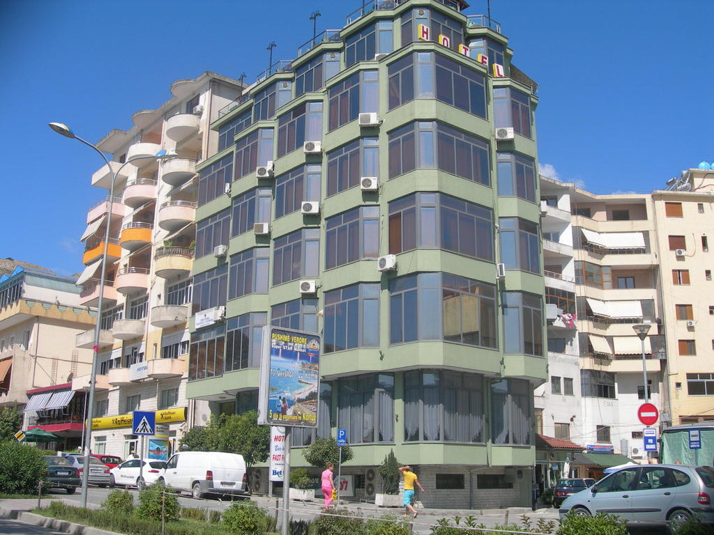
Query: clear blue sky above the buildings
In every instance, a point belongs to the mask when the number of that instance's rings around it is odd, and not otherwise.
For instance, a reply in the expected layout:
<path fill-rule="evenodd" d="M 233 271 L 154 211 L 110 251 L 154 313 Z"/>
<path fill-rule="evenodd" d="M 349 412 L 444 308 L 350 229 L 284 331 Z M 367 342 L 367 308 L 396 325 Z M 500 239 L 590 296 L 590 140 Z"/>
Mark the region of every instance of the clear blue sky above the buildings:
<path fill-rule="evenodd" d="M 99 141 L 171 97 L 171 82 L 214 71 L 246 81 L 339 29 L 360 0 L 0 1 L 0 257 L 64 274 L 103 191 L 99 155 L 46 125 Z M 467 14 L 486 13 L 472 0 Z M 492 0 L 513 62 L 538 81 L 541 164 L 594 193 L 648 192 L 714 161 L 710 0 Z M 104 191 L 106 195 L 106 191 Z"/>

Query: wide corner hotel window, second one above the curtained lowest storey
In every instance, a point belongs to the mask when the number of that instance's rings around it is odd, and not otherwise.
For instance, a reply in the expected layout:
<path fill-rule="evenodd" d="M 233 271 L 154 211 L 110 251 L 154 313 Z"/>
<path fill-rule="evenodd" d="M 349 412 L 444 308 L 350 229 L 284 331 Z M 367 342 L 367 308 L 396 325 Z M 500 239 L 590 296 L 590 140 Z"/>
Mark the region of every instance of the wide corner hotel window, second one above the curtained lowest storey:
<path fill-rule="evenodd" d="M 444 249 L 493 262 L 493 210 L 445 193 L 389 203 L 389 253 Z"/>

